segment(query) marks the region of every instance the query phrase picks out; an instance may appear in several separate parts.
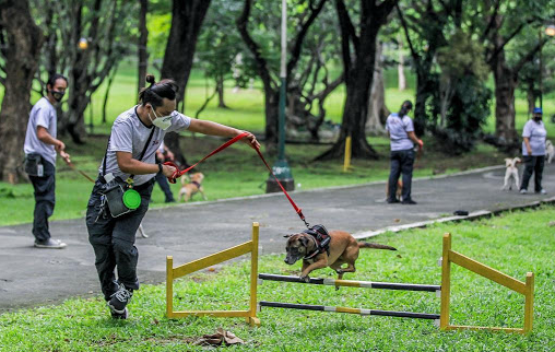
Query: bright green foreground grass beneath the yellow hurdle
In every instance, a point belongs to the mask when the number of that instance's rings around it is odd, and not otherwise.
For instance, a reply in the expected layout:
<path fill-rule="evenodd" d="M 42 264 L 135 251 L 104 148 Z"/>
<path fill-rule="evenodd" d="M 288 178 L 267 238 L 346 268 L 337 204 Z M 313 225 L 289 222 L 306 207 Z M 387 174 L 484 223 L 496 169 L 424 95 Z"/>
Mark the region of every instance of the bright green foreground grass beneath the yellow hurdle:
<path fill-rule="evenodd" d="M 440 283 L 441 236 L 453 235 L 452 248 L 518 280 L 535 274 L 534 329 L 528 336 L 487 331 L 441 332 L 429 320 L 264 308 L 262 326 L 243 319 L 168 320 L 165 286 L 143 285 L 130 304 L 127 321 L 113 321 L 103 300 L 71 298 L 59 306 L 0 316 L 1 351 L 203 351 L 188 344 L 217 327 L 246 341 L 232 351 L 551 351 L 555 343 L 555 237 L 548 223 L 555 208 L 542 207 L 476 222 L 445 223 L 424 230 L 387 233 L 374 242 L 399 251 L 363 250 L 357 272 L 345 279 Z M 283 255 L 264 256 L 260 272 L 295 274 Z M 91 270 L 94 270 L 93 268 Z M 248 260 L 193 273 L 176 281 L 175 309 L 246 309 Z M 322 269 L 312 277 L 334 277 Z M 439 313 L 433 293 L 391 292 L 264 282 L 259 301 L 324 304 Z M 521 327 L 523 296 L 457 266 L 451 278 L 451 324 Z"/>

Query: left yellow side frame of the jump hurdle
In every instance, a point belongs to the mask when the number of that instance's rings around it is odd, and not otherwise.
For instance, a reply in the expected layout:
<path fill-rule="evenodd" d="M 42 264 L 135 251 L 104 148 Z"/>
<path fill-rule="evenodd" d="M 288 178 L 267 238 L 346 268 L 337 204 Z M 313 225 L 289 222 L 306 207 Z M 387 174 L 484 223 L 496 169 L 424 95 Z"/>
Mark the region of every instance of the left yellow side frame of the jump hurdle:
<path fill-rule="evenodd" d="M 244 317 L 250 326 L 260 326 L 257 318 L 257 273 L 258 273 L 259 224 L 252 223 L 252 239 L 241 245 L 222 250 L 204 258 L 174 268 L 174 258 L 166 257 L 166 316 L 181 318 L 188 316 Z M 250 306 L 248 310 L 174 310 L 174 280 L 194 271 L 215 266 L 223 261 L 250 253 Z"/>

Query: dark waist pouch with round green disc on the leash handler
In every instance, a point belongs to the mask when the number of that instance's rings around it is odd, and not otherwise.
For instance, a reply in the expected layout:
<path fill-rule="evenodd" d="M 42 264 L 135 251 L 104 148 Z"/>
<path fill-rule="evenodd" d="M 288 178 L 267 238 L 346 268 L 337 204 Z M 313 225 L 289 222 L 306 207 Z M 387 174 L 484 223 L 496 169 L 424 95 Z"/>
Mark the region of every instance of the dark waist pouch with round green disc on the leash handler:
<path fill-rule="evenodd" d="M 141 195 L 121 178 L 116 177 L 109 183 L 105 184 L 101 193 L 106 197 L 108 210 L 113 218 L 118 218 L 129 212 L 132 212 L 141 206 Z"/>

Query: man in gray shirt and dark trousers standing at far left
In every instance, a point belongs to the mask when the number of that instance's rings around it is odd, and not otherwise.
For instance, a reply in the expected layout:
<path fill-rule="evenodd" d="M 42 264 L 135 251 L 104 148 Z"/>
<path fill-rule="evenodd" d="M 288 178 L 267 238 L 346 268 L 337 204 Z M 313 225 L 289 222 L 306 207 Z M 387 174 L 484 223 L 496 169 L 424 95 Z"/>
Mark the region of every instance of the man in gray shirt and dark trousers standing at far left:
<path fill-rule="evenodd" d="M 66 144 L 57 139 L 56 106 L 60 104 L 68 87 L 68 79 L 52 74 L 46 83 L 46 96 L 31 110 L 25 133 L 25 172 L 35 189 L 33 235 L 36 248 L 61 249 L 66 244 L 50 236 L 48 218 L 56 204 L 56 153 L 67 162 Z"/>

